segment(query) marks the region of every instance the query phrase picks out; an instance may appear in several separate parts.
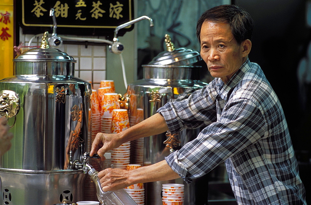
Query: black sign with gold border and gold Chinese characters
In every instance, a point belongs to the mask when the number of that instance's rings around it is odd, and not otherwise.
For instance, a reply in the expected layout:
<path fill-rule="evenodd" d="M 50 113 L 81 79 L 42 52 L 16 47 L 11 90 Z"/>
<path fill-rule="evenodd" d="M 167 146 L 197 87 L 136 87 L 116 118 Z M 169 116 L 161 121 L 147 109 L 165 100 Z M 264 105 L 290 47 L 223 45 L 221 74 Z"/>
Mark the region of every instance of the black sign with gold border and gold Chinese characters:
<path fill-rule="evenodd" d="M 21 0 L 16 8 L 24 34 L 52 31 L 53 19 L 49 13 L 54 8 L 58 34 L 113 37 L 118 25 L 133 20 L 133 4 L 133 0 Z M 118 35 L 132 29 L 130 25 Z"/>

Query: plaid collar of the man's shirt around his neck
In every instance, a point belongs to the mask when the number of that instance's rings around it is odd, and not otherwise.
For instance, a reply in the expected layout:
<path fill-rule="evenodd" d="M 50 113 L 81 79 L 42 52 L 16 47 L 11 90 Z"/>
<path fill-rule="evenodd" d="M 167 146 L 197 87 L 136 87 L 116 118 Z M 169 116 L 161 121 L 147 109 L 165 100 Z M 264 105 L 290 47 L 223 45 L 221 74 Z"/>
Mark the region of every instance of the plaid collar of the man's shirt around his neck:
<path fill-rule="evenodd" d="M 249 67 L 250 61 L 249 59 L 247 59 L 239 68 L 239 70 L 232 75 L 232 77 L 228 80 L 226 84 L 219 78 L 218 83 L 216 84 L 216 86 L 218 86 L 219 88 L 217 96 L 226 100 L 228 92 L 242 80 L 243 76 L 245 75 L 246 71 L 248 71 Z"/>

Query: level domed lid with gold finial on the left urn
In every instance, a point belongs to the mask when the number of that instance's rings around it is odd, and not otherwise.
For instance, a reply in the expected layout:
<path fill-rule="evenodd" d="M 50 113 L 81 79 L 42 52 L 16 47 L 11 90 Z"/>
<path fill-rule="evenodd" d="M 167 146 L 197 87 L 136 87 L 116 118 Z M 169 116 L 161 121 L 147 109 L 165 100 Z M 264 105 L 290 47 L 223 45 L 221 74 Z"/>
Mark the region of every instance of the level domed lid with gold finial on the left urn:
<path fill-rule="evenodd" d="M 47 40 L 48 32 L 45 32 L 42 37 L 40 48 L 32 48 L 21 55 L 16 56 L 13 61 L 62 61 L 62 62 L 77 62 L 67 53 L 56 48 L 50 48 Z"/>

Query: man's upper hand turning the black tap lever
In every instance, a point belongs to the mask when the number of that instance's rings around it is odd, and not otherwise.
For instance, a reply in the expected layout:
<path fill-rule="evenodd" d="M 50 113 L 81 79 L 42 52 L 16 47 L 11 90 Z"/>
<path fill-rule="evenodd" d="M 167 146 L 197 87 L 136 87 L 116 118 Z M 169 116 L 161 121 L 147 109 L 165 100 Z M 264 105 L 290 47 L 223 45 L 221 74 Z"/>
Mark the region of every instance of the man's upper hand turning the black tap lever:
<path fill-rule="evenodd" d="M 104 160 L 104 153 L 114 148 L 118 148 L 122 144 L 119 134 L 97 133 L 92 143 L 90 156 L 97 153 Z"/>

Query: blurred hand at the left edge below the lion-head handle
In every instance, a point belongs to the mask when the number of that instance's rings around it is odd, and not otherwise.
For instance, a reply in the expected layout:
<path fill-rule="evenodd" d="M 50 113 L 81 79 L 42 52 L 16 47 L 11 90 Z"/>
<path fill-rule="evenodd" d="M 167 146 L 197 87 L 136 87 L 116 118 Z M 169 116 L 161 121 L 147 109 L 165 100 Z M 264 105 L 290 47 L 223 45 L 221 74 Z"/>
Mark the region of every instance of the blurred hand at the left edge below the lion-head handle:
<path fill-rule="evenodd" d="M 11 148 L 11 139 L 13 134 L 9 133 L 10 127 L 7 125 L 5 117 L 0 118 L 0 156 Z"/>

